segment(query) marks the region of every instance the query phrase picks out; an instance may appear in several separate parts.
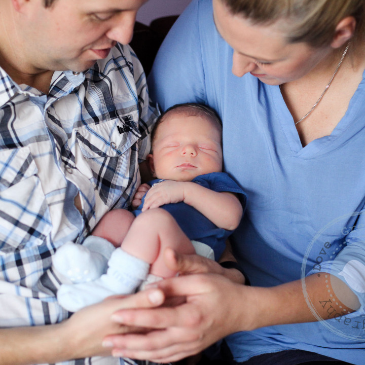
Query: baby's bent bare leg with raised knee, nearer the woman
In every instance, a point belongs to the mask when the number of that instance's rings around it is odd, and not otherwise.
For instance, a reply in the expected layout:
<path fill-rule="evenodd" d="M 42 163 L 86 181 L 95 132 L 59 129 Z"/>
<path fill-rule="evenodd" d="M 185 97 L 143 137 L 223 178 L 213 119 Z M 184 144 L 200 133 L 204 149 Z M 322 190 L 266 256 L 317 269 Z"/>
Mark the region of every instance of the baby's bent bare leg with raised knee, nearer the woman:
<path fill-rule="evenodd" d="M 192 254 L 195 249 L 174 218 L 161 208 L 139 214 L 130 227 L 121 248 L 151 264 L 150 273 L 160 277 L 171 277 L 176 272 L 169 269 L 163 258 L 165 248 Z"/>

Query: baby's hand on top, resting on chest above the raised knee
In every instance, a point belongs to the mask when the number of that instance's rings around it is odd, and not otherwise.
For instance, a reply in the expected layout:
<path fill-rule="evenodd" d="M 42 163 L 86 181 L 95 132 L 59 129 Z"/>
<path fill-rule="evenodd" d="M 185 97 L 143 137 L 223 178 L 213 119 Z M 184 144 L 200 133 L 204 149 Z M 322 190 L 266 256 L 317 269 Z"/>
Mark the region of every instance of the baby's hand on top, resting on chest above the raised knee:
<path fill-rule="evenodd" d="M 154 185 L 144 198 L 142 211 L 184 201 L 186 184 L 191 184 L 191 182 L 165 180 Z"/>

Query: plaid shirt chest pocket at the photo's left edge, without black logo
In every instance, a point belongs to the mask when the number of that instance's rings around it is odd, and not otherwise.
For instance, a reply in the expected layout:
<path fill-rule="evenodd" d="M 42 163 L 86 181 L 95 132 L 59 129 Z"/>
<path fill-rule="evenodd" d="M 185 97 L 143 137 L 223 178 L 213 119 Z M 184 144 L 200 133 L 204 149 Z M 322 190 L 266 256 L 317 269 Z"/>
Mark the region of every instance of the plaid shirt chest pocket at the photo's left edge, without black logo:
<path fill-rule="evenodd" d="M 28 148 L 0 151 L 0 254 L 40 245 L 51 217 Z"/>

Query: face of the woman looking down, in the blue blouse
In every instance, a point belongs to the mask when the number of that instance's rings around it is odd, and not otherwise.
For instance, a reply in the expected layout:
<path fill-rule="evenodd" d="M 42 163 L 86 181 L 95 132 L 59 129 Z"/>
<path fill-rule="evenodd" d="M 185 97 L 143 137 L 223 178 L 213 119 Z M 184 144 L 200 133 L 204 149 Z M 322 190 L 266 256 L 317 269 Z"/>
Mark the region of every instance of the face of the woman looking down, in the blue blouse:
<path fill-rule="evenodd" d="M 213 0 L 214 22 L 223 39 L 233 48 L 232 72 L 247 72 L 268 85 L 280 85 L 307 75 L 333 49 L 312 48 L 306 43 L 286 42 L 283 21 L 271 25 L 252 25 L 233 15 L 222 0 Z M 280 25 L 279 25 L 280 23 Z"/>

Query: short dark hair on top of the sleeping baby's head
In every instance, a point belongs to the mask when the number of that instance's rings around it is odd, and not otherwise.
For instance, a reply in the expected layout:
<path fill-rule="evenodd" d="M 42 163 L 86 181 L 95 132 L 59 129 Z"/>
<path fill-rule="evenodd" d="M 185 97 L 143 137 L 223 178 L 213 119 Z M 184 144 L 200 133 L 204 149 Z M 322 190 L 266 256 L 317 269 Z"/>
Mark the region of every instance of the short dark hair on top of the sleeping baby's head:
<path fill-rule="evenodd" d="M 222 121 L 220 116 L 218 116 L 217 112 L 208 105 L 198 104 L 198 103 L 183 103 L 183 104 L 175 104 L 169 107 L 165 113 L 161 114 L 154 125 L 154 128 L 151 132 L 151 145 L 153 146 L 153 142 L 156 137 L 157 129 L 159 125 L 171 114 L 184 114 L 187 117 L 205 117 L 208 118 L 211 122 L 217 125 L 218 129 L 222 134 Z"/>

